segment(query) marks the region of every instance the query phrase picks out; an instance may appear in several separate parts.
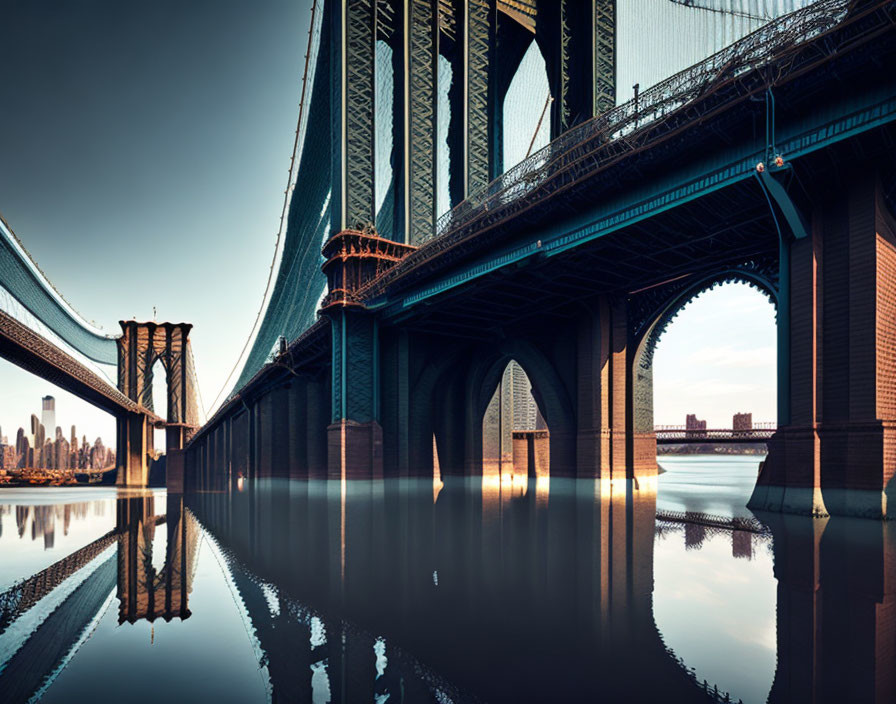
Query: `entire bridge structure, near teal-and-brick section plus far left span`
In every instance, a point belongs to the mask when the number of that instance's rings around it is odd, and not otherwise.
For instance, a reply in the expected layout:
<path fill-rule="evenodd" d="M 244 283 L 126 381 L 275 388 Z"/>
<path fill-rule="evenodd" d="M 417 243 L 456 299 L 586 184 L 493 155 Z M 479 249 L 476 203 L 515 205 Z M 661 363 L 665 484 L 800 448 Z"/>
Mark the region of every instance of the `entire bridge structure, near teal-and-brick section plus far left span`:
<path fill-rule="evenodd" d="M 145 483 L 162 422 L 193 488 L 474 475 L 486 436 L 513 430 L 483 423 L 515 412 L 511 361 L 552 476 L 650 474 L 656 342 L 694 295 L 744 281 L 778 323 L 754 505 L 889 515 L 893 2 L 319 0 L 312 15 L 268 291 L 207 423 L 189 325 L 96 330 L 0 228 L 2 312 L 81 367 L 45 364 L 21 330 L 4 356 L 113 410 L 120 483 Z M 645 47 L 650 27 L 669 41 Z M 631 51 L 654 58 L 635 69 Z M 520 146 L 506 105 L 536 54 Z M 97 365 L 126 398 L 85 381 Z"/>

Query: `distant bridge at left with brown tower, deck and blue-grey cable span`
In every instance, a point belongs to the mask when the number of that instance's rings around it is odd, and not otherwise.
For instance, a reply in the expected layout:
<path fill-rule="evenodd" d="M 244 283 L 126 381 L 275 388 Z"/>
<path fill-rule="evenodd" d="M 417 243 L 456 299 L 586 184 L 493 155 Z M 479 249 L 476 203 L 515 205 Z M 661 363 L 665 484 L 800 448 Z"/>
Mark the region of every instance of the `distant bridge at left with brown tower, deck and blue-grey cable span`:
<path fill-rule="evenodd" d="M 146 485 L 156 428 L 166 429 L 167 449 L 180 449 L 199 425 L 191 327 L 123 321 L 121 334 L 103 333 L 65 302 L 0 218 L 0 356 L 115 417 L 119 484 Z M 99 365 L 117 366 L 118 388 Z M 157 413 L 159 371 L 168 398 Z"/>

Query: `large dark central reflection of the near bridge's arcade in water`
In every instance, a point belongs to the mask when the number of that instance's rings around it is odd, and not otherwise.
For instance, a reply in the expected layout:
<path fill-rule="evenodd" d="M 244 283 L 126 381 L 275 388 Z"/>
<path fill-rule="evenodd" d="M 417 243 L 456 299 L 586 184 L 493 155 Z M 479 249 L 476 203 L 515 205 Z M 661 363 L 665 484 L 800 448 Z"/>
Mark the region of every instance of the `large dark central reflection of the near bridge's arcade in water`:
<path fill-rule="evenodd" d="M 275 700 L 310 701 L 310 665 L 324 663 L 332 701 L 399 683 L 410 702 L 714 701 L 653 624 L 652 489 L 632 511 L 626 488 L 595 500 L 593 482 L 527 487 L 510 499 L 452 480 L 434 500 L 422 481 L 296 482 L 188 504 L 227 556 Z"/>

